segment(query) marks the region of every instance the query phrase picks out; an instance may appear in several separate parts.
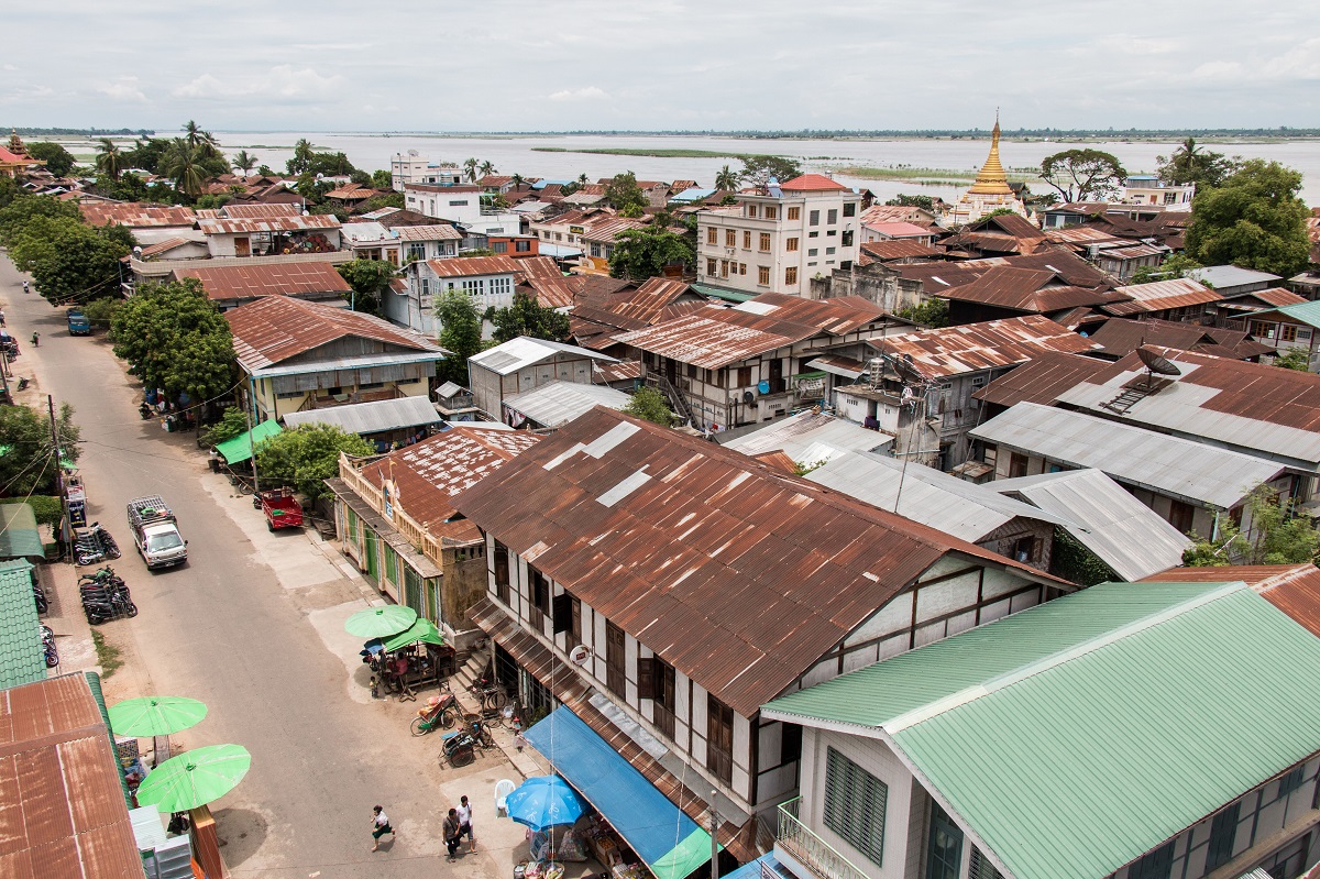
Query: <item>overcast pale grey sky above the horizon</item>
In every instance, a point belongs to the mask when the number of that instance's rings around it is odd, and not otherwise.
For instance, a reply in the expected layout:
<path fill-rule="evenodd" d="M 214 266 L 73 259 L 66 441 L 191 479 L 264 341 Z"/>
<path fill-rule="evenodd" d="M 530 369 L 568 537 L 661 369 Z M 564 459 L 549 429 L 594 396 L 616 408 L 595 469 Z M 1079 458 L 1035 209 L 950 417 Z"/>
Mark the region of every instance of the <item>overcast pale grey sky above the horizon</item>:
<path fill-rule="evenodd" d="M 1313 1 L 12 5 L 5 127 L 1320 127 Z"/>

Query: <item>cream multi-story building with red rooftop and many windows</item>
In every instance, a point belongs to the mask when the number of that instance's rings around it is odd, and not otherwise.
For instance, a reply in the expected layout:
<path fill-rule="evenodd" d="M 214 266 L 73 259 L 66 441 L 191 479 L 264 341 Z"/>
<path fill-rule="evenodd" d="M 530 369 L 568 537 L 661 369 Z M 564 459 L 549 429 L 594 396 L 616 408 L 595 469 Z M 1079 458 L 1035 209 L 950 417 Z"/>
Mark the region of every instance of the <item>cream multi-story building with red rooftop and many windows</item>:
<path fill-rule="evenodd" d="M 851 268 L 862 197 L 821 174 L 738 194 L 698 215 L 697 280 L 746 293 L 808 296 L 810 278 Z"/>

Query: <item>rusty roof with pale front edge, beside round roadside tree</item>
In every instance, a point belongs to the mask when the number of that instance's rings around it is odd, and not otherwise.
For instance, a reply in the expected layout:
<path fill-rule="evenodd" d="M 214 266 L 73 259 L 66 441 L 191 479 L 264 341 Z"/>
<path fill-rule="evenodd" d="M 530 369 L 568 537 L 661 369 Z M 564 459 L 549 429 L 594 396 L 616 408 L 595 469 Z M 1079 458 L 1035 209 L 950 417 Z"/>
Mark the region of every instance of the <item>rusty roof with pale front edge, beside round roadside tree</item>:
<path fill-rule="evenodd" d="M 224 313 L 234 333 L 234 354 L 249 372 L 305 354 L 334 339 L 359 337 L 409 352 L 445 354 L 429 339 L 360 311 L 267 296 Z M 309 370 L 312 367 L 309 366 Z"/>

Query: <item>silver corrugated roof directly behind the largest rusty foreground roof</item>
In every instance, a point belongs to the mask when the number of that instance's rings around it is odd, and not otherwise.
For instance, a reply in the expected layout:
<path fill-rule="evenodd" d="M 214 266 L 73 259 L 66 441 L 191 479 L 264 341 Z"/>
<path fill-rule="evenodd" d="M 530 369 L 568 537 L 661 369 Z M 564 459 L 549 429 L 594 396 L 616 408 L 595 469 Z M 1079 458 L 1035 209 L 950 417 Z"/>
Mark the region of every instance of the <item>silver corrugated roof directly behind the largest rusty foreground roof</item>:
<path fill-rule="evenodd" d="M 870 453 L 843 453 L 807 478 L 970 542 L 983 540 L 1018 517 L 1073 525 L 1065 516 L 1005 498 L 933 467 L 908 463 L 904 470 L 902 461 Z"/>

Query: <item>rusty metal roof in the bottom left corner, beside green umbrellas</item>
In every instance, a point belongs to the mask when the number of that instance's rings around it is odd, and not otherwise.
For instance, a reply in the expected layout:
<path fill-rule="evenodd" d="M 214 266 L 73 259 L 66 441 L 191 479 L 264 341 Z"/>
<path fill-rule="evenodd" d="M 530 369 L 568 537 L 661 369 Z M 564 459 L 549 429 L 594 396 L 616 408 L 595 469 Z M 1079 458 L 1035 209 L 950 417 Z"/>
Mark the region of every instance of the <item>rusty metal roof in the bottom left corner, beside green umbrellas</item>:
<path fill-rule="evenodd" d="M 141 879 L 110 731 L 83 674 L 0 692 L 0 875 Z"/>

